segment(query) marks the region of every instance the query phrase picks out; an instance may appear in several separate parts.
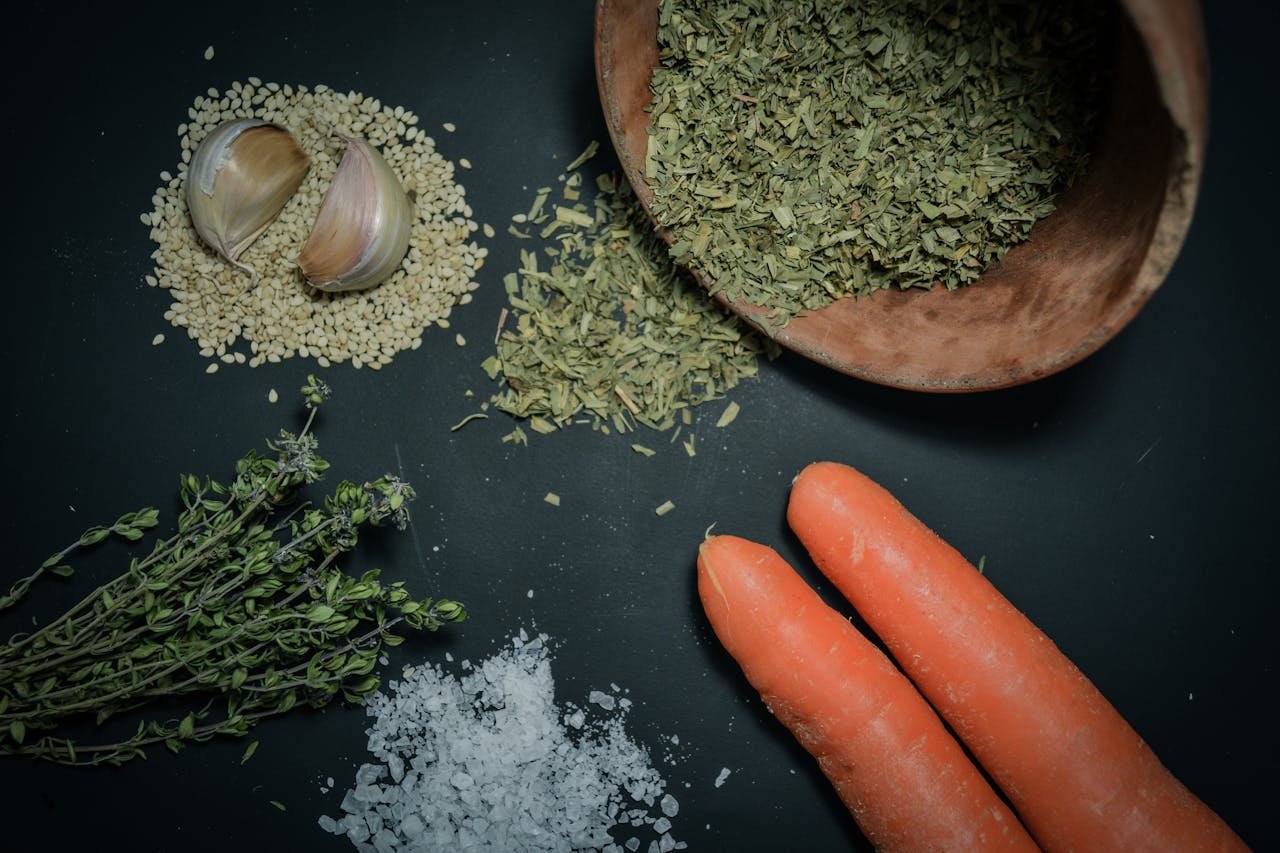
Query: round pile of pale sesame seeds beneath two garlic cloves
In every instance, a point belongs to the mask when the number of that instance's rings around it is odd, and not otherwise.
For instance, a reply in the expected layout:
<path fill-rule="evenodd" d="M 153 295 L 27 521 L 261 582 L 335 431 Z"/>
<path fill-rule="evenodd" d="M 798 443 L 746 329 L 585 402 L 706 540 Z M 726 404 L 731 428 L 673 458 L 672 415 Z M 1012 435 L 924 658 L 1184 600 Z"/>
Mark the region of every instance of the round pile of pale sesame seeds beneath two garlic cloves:
<path fill-rule="evenodd" d="M 178 127 L 182 163 L 152 196 L 142 214 L 156 243 L 155 272 L 146 280 L 169 291 L 164 318 L 184 328 L 219 364 L 276 362 L 314 357 L 320 366 L 349 361 L 379 369 L 406 348 L 416 350 L 429 325 L 448 328 L 454 305 L 471 301 L 475 273 L 488 255 L 471 240 L 477 231 L 466 191 L 453 164 L 402 106 L 385 106 L 358 92 L 326 86 L 282 86 L 250 77 L 224 92 L 210 88 L 187 110 Z M 200 142 L 232 118 L 259 118 L 287 127 L 311 160 L 302 186 L 239 260 L 257 273 L 224 261 L 196 234 L 186 202 L 186 179 Z M 306 286 L 293 265 L 306 243 L 320 201 L 344 150 L 339 133 L 378 147 L 413 202 L 416 218 L 401 268 L 367 291 L 323 293 Z"/>

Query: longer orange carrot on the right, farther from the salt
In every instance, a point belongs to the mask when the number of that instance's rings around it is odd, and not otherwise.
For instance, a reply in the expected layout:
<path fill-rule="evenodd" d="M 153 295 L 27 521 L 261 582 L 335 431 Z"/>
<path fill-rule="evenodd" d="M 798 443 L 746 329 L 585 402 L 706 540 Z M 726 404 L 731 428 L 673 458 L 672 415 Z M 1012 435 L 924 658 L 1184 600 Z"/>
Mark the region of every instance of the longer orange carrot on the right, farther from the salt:
<path fill-rule="evenodd" d="M 1098 689 L 888 492 L 817 462 L 787 521 L 1047 850 L 1240 850 Z"/>

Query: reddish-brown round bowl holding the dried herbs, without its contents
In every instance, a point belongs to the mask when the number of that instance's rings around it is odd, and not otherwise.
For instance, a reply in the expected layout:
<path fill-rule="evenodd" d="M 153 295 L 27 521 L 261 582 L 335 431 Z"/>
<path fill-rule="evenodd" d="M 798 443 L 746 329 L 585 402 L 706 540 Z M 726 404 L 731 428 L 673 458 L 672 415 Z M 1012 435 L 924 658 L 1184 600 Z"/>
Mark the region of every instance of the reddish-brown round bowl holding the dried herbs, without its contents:
<path fill-rule="evenodd" d="M 1006 388 L 1076 364 L 1160 287 L 1199 186 L 1208 70 L 1196 0 L 1121 0 L 1116 73 L 1084 177 L 1057 210 L 978 280 L 956 291 L 882 291 L 776 328 L 730 309 L 778 343 L 836 370 L 931 392 Z M 609 136 L 646 210 L 655 0 L 598 0 L 595 67 Z M 659 228 L 659 231 L 662 231 Z M 671 242 L 669 233 L 663 237 Z M 705 275 L 694 274 L 704 286 Z"/>

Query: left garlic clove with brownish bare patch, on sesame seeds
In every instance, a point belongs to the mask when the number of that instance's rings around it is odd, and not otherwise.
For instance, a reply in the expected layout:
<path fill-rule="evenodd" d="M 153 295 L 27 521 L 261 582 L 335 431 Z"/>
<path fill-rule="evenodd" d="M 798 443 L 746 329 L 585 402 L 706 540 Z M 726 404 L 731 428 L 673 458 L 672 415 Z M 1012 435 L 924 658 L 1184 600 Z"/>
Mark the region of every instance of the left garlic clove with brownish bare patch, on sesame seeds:
<path fill-rule="evenodd" d="M 196 147 L 187 210 L 196 233 L 236 266 L 297 192 L 311 161 L 287 128 L 260 119 L 223 122 Z"/>

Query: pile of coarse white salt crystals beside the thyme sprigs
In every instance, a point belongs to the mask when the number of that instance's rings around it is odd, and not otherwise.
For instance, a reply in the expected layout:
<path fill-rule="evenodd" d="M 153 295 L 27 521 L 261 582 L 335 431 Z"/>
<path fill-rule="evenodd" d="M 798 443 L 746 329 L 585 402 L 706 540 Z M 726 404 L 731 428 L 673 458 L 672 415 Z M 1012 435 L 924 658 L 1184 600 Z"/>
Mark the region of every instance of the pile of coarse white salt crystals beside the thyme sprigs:
<path fill-rule="evenodd" d="M 623 719 L 630 701 L 557 707 L 545 634 L 452 675 L 406 670 L 369 698 L 369 752 L 343 816 L 320 826 L 361 850 L 685 849 L 680 811 Z"/>

